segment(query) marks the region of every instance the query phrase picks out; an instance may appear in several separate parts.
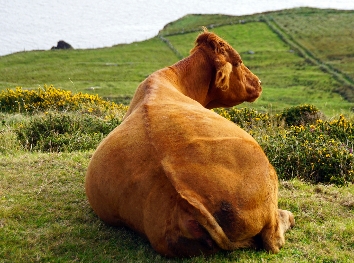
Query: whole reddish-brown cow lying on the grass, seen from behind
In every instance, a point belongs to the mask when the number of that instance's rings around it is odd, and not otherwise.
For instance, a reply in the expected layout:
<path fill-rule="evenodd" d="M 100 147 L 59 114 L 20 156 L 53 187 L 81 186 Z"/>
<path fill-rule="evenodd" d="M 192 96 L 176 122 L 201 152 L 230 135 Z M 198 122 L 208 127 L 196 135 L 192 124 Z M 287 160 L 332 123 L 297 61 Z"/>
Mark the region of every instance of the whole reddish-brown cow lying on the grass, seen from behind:
<path fill-rule="evenodd" d="M 252 102 L 261 82 L 205 29 L 190 56 L 138 87 L 98 146 L 86 194 L 105 222 L 129 226 L 167 257 L 261 246 L 278 253 L 293 214 L 251 135 L 208 109 Z"/>

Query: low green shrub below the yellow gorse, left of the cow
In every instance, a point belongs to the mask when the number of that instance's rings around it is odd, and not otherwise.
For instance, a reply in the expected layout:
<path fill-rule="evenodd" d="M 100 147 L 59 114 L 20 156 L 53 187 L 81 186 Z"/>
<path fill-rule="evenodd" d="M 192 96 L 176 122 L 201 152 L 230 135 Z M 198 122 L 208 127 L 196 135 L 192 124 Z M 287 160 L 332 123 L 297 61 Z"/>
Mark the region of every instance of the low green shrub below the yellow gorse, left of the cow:
<path fill-rule="evenodd" d="M 97 116 L 75 113 L 47 113 L 30 117 L 28 123 L 15 131 L 22 145 L 31 150 L 89 150 L 121 123 L 121 118 L 109 121 Z"/>

